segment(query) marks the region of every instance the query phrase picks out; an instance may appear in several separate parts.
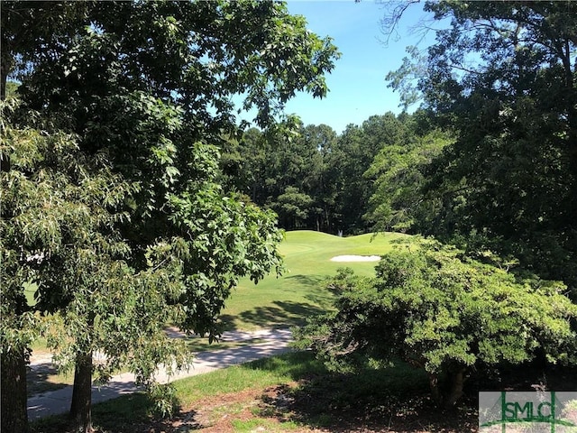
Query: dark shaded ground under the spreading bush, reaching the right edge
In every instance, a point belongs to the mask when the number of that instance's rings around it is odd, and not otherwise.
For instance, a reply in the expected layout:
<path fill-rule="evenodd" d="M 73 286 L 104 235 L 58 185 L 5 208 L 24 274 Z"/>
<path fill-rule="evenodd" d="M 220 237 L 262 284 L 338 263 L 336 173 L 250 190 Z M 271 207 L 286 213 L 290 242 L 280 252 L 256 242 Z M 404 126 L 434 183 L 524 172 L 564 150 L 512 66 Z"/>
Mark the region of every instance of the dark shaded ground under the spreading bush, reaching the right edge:
<path fill-rule="evenodd" d="M 286 366 L 282 359 L 292 360 Z M 465 383 L 463 399 L 451 410 L 432 401 L 422 370 L 401 361 L 358 373 L 332 373 L 310 352 L 283 355 L 251 364 L 252 368 L 285 369 L 297 386 L 281 384 L 261 397 L 261 416 L 297 422 L 331 432 L 396 431 L 406 433 L 478 431 L 480 390 L 574 391 L 577 368 L 526 364 L 479 371 Z"/>

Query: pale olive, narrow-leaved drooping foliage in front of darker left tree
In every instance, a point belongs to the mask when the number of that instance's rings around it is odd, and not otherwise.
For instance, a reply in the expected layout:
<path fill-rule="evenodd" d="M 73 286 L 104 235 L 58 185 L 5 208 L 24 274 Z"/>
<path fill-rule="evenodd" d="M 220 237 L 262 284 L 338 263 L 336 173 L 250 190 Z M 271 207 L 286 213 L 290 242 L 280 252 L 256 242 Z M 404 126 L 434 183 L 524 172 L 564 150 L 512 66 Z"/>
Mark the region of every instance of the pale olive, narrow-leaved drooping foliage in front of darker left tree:
<path fill-rule="evenodd" d="M 5 119 L 9 111 L 3 103 Z M 15 360 L 27 353 L 40 330 L 33 311 L 65 306 L 47 335 L 62 364 L 76 363 L 77 374 L 86 366 L 88 380 L 93 368 L 102 382 L 130 364 L 143 382 L 160 360 L 184 364 L 184 346 L 169 344 L 163 332 L 163 324 L 174 318 L 167 302 L 174 303 L 181 291 L 178 274 L 168 266 L 134 272 L 127 265 L 131 249 L 115 228 L 130 217 L 121 207 L 135 187 L 112 173 L 105 155 L 80 153 L 70 134 L 8 123 L 2 133 L 0 150 L 11 163 L 2 173 L 2 355 Z M 30 283 L 38 285 L 34 305 L 23 295 Z M 105 358 L 93 366 L 96 351 Z M 10 392 L 3 402 L 14 410 L 10 401 L 23 401 L 25 413 L 25 392 L 21 399 L 5 379 Z"/>

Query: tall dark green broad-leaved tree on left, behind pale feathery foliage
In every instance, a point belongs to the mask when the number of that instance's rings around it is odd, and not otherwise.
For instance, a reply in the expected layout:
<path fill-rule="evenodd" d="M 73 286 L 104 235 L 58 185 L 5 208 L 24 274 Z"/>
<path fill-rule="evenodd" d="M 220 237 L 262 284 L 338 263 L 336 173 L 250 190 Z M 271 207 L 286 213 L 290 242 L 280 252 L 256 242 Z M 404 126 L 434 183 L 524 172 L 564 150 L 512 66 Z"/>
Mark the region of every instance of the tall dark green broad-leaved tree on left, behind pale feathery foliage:
<path fill-rule="evenodd" d="M 125 256 L 118 253 L 103 261 L 111 278 L 128 279 L 136 287 L 144 283 L 140 278 L 152 278 L 151 269 L 155 275 L 169 275 L 166 290 L 154 290 L 148 281 L 150 290 L 142 291 L 142 302 L 159 318 L 151 332 L 172 312 L 183 330 L 214 338 L 220 331 L 218 313 L 238 278 L 250 275 L 257 281 L 279 264 L 274 216 L 238 195 L 225 194 L 216 182 L 219 152 L 214 144 L 237 133 L 232 97 L 246 92 L 243 106 L 255 106 L 257 124 L 271 126 L 298 90 L 325 95 L 323 74 L 333 68 L 335 47 L 328 38 L 307 32 L 304 19 L 289 15 L 285 5 L 252 1 L 95 2 L 82 4 L 78 14 L 72 14 L 76 4 L 55 4 L 51 16 L 63 25 L 46 34 L 32 26 L 39 32 L 21 34 L 21 18 L 40 23 L 44 6 L 2 2 L 3 41 L 10 41 L 2 44 L 2 57 L 14 66 L 3 69 L 3 79 L 17 73 L 22 82 L 21 122 L 37 110 L 41 118 L 50 119 L 50 134 L 75 134 L 79 158 L 105 156 L 110 173 L 130 186 L 131 194 L 119 203 L 130 221 L 113 218 L 87 233 L 114 235 L 115 242 L 124 245 L 120 253 Z M 58 173 L 58 164 L 53 168 Z M 98 169 L 92 174 L 97 179 Z M 82 242 L 88 255 L 95 249 L 101 252 L 102 245 Z M 96 260 L 96 255 L 91 257 L 87 259 Z M 105 345 L 111 360 L 121 352 L 106 340 L 103 323 L 114 325 L 114 306 L 111 299 L 104 302 L 108 297 L 99 298 L 98 291 L 118 293 L 118 286 L 105 278 L 105 271 L 78 286 L 60 285 L 73 277 L 69 269 L 78 264 L 73 254 L 60 263 L 47 261 L 52 277 L 45 273 L 42 278 L 53 284 L 41 284 L 38 302 L 46 311 L 75 318 L 64 322 L 69 335 L 101 326 L 97 337 L 102 339 L 93 339 L 95 345 L 84 344 L 90 340 L 84 334 L 72 345 L 76 354 L 62 354 L 76 356 L 77 373 L 82 370 L 75 385 L 78 380 L 85 391 L 75 395 L 84 397 L 73 402 L 72 410 L 78 427 L 87 431 L 87 387 L 94 368 L 88 357 L 102 348 L 96 345 Z M 94 268 L 87 263 L 87 269 Z M 59 290 L 75 287 L 69 296 L 58 296 Z M 134 301 L 131 293 L 121 293 L 125 302 Z M 106 312 L 104 322 L 99 311 L 87 308 L 92 300 L 95 309 Z M 127 322 L 131 318 L 125 317 Z M 125 326 L 140 331 L 139 339 L 149 329 L 138 322 Z M 159 362 L 170 353 L 166 345 L 160 346 L 157 352 L 133 354 L 142 362 Z M 152 373 L 138 371 L 143 380 Z M 80 413 L 75 413 L 78 408 Z"/>

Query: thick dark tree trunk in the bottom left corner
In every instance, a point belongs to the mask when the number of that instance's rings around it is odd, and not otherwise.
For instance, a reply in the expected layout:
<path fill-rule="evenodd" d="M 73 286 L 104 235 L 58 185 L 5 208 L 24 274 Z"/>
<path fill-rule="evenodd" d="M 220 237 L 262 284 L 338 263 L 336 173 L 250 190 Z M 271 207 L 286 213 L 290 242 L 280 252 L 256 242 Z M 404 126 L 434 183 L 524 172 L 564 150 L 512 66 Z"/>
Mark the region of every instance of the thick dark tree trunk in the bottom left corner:
<path fill-rule="evenodd" d="M 4 348 L 3 348 L 4 350 Z M 0 355 L 2 405 L 0 431 L 26 433 L 28 412 L 26 398 L 26 355 L 23 350 Z"/>

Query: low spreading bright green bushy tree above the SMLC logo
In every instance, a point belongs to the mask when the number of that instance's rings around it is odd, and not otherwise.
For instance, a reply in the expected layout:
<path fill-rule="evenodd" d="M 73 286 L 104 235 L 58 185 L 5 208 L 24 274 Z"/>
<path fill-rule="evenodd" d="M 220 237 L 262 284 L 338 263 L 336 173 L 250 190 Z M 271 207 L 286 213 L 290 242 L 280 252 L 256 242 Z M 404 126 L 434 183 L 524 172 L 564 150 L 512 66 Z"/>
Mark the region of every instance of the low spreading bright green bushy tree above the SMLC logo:
<path fill-rule="evenodd" d="M 443 407 L 461 398 L 473 369 L 540 355 L 577 362 L 577 306 L 563 283 L 517 278 L 448 246 L 411 245 L 384 255 L 376 277 L 341 272 L 332 285 L 336 311 L 298 330 L 299 345 L 334 368 L 403 359 L 428 373 Z"/>

